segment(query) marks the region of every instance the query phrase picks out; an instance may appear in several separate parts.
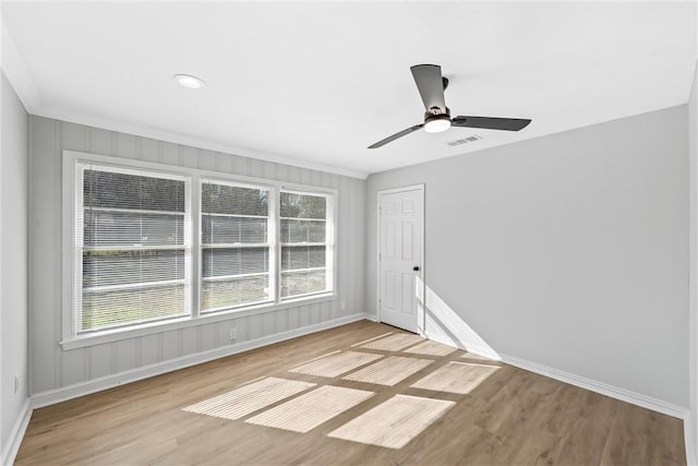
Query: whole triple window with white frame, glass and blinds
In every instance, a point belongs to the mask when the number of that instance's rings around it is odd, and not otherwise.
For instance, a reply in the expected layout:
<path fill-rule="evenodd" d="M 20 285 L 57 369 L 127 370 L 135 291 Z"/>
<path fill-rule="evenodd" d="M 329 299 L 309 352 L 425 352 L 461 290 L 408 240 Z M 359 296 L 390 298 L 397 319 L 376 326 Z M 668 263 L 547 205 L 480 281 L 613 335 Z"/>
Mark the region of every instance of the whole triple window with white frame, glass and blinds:
<path fill-rule="evenodd" d="M 334 192 L 64 154 L 64 342 L 332 296 Z"/>

